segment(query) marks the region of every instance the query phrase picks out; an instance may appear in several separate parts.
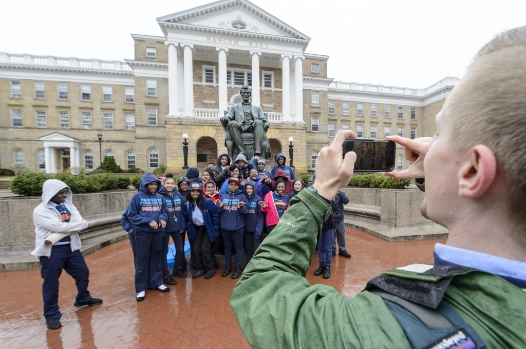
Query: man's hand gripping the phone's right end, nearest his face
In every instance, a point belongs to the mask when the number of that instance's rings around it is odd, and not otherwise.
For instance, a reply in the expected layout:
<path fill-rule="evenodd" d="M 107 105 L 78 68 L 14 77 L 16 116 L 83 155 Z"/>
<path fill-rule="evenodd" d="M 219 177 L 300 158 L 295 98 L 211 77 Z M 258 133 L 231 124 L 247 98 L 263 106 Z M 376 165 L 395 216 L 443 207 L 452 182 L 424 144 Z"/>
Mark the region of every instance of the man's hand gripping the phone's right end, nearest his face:
<path fill-rule="evenodd" d="M 395 179 L 423 178 L 424 157 L 426 157 L 433 138 L 420 137 L 410 140 L 400 136 L 387 136 L 386 139 L 404 146 L 406 148 L 404 155 L 412 164 L 406 170 L 386 172 L 385 175 Z"/>

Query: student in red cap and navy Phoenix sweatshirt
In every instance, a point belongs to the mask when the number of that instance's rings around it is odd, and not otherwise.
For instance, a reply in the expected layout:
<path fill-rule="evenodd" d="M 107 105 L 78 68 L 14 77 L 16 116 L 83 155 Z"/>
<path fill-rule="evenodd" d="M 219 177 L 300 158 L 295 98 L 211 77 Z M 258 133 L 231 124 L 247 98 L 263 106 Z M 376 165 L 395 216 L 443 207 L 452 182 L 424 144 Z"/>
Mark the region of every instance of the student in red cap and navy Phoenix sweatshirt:
<path fill-rule="evenodd" d="M 221 200 L 216 200 L 221 215 L 219 227 L 223 244 L 225 244 L 225 271 L 222 272 L 221 276 L 226 277 L 232 269 L 232 244 L 234 244 L 236 262 L 232 279 L 239 278 L 242 273 L 241 268 L 245 255 L 243 249 L 245 216 L 248 215 L 247 196 L 239 189 L 239 184 L 238 178 L 230 177 L 228 179 L 228 192 L 221 197 Z"/>

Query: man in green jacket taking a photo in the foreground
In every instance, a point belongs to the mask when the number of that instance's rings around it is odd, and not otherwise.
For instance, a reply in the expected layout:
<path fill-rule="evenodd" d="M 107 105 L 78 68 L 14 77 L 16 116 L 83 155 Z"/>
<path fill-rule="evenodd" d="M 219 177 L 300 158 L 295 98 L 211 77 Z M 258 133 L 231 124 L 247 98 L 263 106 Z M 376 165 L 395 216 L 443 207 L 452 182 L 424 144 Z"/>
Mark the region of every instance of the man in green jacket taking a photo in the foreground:
<path fill-rule="evenodd" d="M 232 291 L 252 348 L 526 347 L 525 55 L 526 27 L 495 37 L 448 97 L 432 139 L 388 138 L 412 162 L 388 175 L 425 177 L 422 214 L 449 237 L 433 266 L 382 273 L 353 298 L 305 279 L 330 200 L 356 161 L 341 156 L 356 135 L 338 131 L 319 153 L 316 183 L 292 199 Z"/>

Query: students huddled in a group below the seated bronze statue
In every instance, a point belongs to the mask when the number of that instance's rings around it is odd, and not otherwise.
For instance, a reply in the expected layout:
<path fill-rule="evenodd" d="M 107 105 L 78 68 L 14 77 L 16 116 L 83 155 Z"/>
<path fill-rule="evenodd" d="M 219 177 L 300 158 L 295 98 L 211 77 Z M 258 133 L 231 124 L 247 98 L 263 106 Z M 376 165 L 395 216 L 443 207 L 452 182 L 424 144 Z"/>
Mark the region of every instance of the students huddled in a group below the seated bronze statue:
<path fill-rule="evenodd" d="M 168 292 L 174 277 L 185 278 L 185 234 L 190 242 L 190 263 L 196 270 L 192 278 L 213 278 L 219 268 L 213 253 L 213 241 L 222 239 L 225 270 L 232 279 L 242 273 L 244 255 L 247 263 L 262 238 L 277 225 L 289 207 L 289 200 L 305 187 L 294 176 L 279 153 L 272 172 L 265 170 L 265 159 L 247 161 L 240 154 L 231 161 L 221 153 L 217 164 L 199 172 L 190 167 L 177 182 L 171 173 L 166 177 L 145 174 L 137 193 L 121 217 L 134 253 L 137 301 L 143 301 L 147 289 Z M 292 177 L 292 179 L 291 179 Z M 175 245 L 174 269 L 170 274 L 166 255 L 170 237 Z M 221 245 L 221 244 L 219 244 Z"/>

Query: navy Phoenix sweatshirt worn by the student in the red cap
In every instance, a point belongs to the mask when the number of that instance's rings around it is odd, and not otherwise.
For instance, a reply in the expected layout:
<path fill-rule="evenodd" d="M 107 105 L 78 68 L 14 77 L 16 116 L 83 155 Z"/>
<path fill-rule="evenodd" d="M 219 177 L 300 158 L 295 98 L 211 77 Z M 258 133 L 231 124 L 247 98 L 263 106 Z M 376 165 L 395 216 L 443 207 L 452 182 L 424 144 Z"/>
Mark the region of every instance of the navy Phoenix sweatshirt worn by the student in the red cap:
<path fill-rule="evenodd" d="M 227 193 L 221 197 L 223 206 L 218 209 L 218 213 L 221 215 L 219 221 L 221 229 L 230 231 L 245 229 L 245 216 L 248 215 L 248 207 L 247 205 L 237 207 L 237 204 L 240 201 L 246 203 L 247 200 L 247 196 L 241 189 L 238 188 L 234 194 L 228 189 Z"/>

